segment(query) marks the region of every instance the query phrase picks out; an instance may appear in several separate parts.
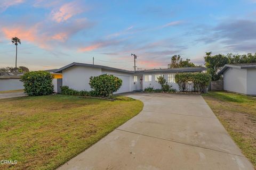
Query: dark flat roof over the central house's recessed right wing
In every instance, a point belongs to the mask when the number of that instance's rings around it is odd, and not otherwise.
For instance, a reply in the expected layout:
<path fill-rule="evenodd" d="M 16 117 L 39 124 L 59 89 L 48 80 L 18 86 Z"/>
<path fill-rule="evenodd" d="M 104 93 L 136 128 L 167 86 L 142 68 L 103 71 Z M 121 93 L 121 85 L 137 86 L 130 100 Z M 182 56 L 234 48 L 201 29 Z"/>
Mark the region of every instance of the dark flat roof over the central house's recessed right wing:
<path fill-rule="evenodd" d="M 169 68 L 169 69 L 150 69 L 139 70 L 136 73 L 177 73 L 177 72 L 198 72 L 205 71 L 205 67 L 182 67 L 182 68 Z"/>

